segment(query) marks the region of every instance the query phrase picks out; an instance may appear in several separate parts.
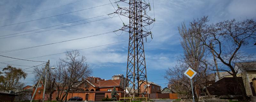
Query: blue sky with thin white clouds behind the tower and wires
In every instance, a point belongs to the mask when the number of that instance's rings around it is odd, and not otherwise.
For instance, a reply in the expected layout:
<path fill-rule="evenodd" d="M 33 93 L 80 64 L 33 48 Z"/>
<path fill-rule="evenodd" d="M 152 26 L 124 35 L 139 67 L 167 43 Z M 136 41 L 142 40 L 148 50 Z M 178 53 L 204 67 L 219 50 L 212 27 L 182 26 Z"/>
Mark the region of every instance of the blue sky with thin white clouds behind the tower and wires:
<path fill-rule="evenodd" d="M 152 5 L 153 1 L 149 1 Z M 114 2 L 114 0 L 111 0 L 111 2 Z M 108 3 L 110 3 L 109 0 L 1 0 L 0 26 L 16 24 L 19 22 L 26 22 L 29 20 L 36 20 L 48 16 L 64 14 L 67 12 L 82 10 L 85 8 L 91 8 L 94 6 L 100 6 Z M 178 26 L 182 22 L 186 22 L 186 24 L 188 24 L 193 19 L 201 18 L 202 16 L 208 16 L 210 20 L 209 23 L 216 23 L 223 20 L 231 19 L 242 21 L 252 18 L 255 20 L 255 4 L 256 0 L 154 0 L 156 22 L 153 29 L 151 30 L 154 38 L 151 42 L 144 43 L 148 80 L 160 84 L 162 88 L 167 86 L 168 81 L 164 79 L 166 69 L 168 69 L 169 67 L 173 67 L 177 62 L 177 57 L 183 55 L 183 50 L 180 46 L 180 35 L 178 33 Z M 122 2 L 119 3 L 119 5 L 122 6 Z M 114 6 L 116 7 L 116 4 L 114 4 Z M 52 9 L 48 10 L 50 8 Z M 33 22 L 0 27 L 0 35 L 7 35 L 33 29 L 40 29 L 48 26 L 54 26 L 58 24 L 64 24 L 77 20 L 83 20 L 86 18 L 111 14 L 114 11 L 115 10 L 112 5 L 108 4 L 98 8 L 92 8 L 89 10 L 83 10 L 80 12 L 74 12 L 43 20 L 36 20 Z M 34 12 L 39 13 L 28 15 Z M 154 18 L 153 10 L 149 12 L 149 15 Z M 84 20 L 82 22 L 76 22 L 72 24 L 65 24 L 58 27 L 91 22 L 104 18 L 108 18 L 108 16 L 102 16 L 100 18 Z M 125 18 L 123 16 L 121 16 L 121 18 L 125 24 L 129 23 L 128 18 Z M 44 31 L 58 27 L 41 29 L 38 31 Z M 121 27 L 122 21 L 120 20 L 120 18 L 114 17 L 107 20 L 100 20 L 96 22 L 81 24 L 79 26 L 66 27 L 63 29 L 56 29 L 30 35 L 5 38 L 0 39 L 0 51 L 65 41 L 98 33 L 114 31 L 120 29 Z M 26 33 L 33 32 L 37 31 L 30 31 Z M 20 33 L 17 35 L 26 33 Z M 122 43 L 80 51 L 80 54 L 84 55 L 87 58 L 88 63 L 93 69 L 92 76 L 101 77 L 104 79 L 111 79 L 113 75 L 126 74 L 128 33 L 123 32 L 121 35 L 120 34 L 121 32 L 116 32 L 116 34 L 109 33 L 106 35 L 99 35 L 96 37 L 68 41 L 64 43 L 57 43 L 53 45 L 24 49 L 20 51 L 0 53 L 0 55 L 26 59 L 54 53 L 62 53 L 65 51 L 70 51 L 72 49 L 85 49 L 89 47 L 96 47 L 100 45 L 126 41 Z M 151 38 L 148 37 L 148 41 L 150 40 Z M 247 53 L 255 53 L 255 49 L 256 47 L 253 46 L 245 49 L 244 51 L 246 51 Z M 47 61 L 48 59 L 50 59 L 50 65 L 54 65 L 59 58 L 64 57 L 65 54 L 58 54 L 47 57 L 34 58 L 30 60 Z M 41 64 L 38 62 L 13 60 L 14 59 L 0 57 L 0 62 L 12 61 L 8 62 L 9 64 L 30 66 Z M 5 66 L 5 64 L 0 63 L 0 67 Z M 28 67 L 20 68 L 25 69 Z M 32 69 L 27 70 L 27 72 L 28 77 L 22 81 L 28 85 L 32 85 L 32 82 L 34 80 Z"/>

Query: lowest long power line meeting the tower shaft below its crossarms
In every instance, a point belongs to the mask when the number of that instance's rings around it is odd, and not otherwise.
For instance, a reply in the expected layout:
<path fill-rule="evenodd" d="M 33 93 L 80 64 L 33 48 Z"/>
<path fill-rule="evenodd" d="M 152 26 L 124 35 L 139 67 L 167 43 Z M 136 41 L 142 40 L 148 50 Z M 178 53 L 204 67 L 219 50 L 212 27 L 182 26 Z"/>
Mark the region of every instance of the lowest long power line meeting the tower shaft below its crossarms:
<path fill-rule="evenodd" d="M 123 43 L 123 42 L 126 42 L 126 41 L 121 41 L 121 42 L 116 42 L 116 43 Z M 116 43 L 110 43 L 110 44 L 106 44 L 106 45 L 112 45 L 112 44 L 116 44 Z M 99 46 L 95 46 L 95 47 L 88 47 L 88 48 L 85 48 L 85 49 L 92 49 L 92 48 L 102 47 L 102 46 L 106 46 L 106 45 L 99 45 Z M 77 51 L 85 50 L 85 49 L 78 49 Z M 67 51 L 67 52 L 71 52 L 71 51 Z M 67 52 L 63 52 L 63 53 L 67 53 Z M 44 55 L 44 56 L 39 56 L 39 57 L 31 57 L 31 58 L 26 58 L 26 59 L 34 59 L 34 58 L 40 58 L 40 57 L 46 57 L 46 56 L 58 55 L 58 54 L 62 54 L 62 53 L 54 53 L 54 54 L 50 54 L 50 55 Z M 14 61 L 19 61 L 19 60 L 14 60 Z M 13 62 L 13 61 L 6 61 L 6 62 Z M 3 62 L 3 63 L 6 63 L 6 62 Z M 2 67 L 4 67 L 4 66 L 2 66 Z"/>

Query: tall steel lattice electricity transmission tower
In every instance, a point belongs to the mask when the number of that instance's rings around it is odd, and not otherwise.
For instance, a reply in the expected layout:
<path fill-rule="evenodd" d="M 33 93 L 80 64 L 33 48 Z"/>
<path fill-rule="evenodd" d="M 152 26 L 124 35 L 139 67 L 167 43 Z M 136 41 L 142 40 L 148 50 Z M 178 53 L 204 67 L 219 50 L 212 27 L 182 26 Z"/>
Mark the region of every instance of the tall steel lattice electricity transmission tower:
<path fill-rule="evenodd" d="M 129 18 L 129 24 L 121 28 L 129 32 L 128 61 L 126 70 L 126 91 L 125 98 L 148 97 L 148 79 L 146 73 L 146 61 L 144 53 L 143 39 L 151 35 L 151 31 L 146 26 L 152 24 L 155 20 L 147 15 L 147 10 L 151 10 L 149 2 L 145 0 L 121 0 L 129 5 L 127 8 L 116 10 L 116 14 Z M 141 86 L 146 84 L 146 88 Z"/>

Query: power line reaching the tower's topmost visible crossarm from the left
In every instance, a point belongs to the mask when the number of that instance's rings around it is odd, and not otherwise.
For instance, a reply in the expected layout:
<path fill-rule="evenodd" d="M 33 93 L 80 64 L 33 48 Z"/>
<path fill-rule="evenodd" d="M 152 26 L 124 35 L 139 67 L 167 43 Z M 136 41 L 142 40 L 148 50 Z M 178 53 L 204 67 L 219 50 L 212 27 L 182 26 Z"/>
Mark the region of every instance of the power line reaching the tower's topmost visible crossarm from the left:
<path fill-rule="evenodd" d="M 118 1 L 118 2 L 119 2 L 119 1 Z M 111 3 L 108 3 L 108 4 L 111 4 Z M 100 6 L 105 6 L 105 5 L 108 5 L 108 4 L 103 4 L 103 5 L 100 5 Z M 64 14 L 58 14 L 58 15 L 49 16 L 49 17 L 45 17 L 45 18 L 39 18 L 39 19 L 36 19 L 36 20 L 43 20 L 43 19 L 46 19 L 46 18 L 52 18 L 52 17 L 56 17 L 56 16 L 61 16 L 61 15 L 65 15 L 65 14 L 74 13 L 74 12 L 80 12 L 80 11 L 83 11 L 83 10 L 88 10 L 88 9 L 92 9 L 92 8 L 97 8 L 97 7 L 100 7 L 100 6 L 94 6 L 94 7 L 91 7 L 91 8 L 86 8 L 86 9 L 77 10 L 77 11 L 73 11 L 73 12 L 68 12 L 68 13 L 64 13 Z M 0 26 L 0 27 L 12 26 L 12 25 L 16 25 L 16 24 L 23 24 L 23 23 L 27 23 L 27 22 L 36 21 L 36 20 L 30 20 L 30 21 L 15 23 L 15 24 L 8 24 L 8 25 Z"/>

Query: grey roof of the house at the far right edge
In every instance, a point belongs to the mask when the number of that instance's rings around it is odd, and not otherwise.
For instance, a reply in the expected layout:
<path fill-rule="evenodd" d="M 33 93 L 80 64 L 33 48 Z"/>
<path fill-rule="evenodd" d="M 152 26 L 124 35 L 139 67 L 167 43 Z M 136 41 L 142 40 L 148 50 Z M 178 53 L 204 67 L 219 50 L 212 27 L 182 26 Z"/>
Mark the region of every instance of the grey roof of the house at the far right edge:
<path fill-rule="evenodd" d="M 256 71 L 256 61 L 236 63 L 236 66 L 244 71 Z"/>

